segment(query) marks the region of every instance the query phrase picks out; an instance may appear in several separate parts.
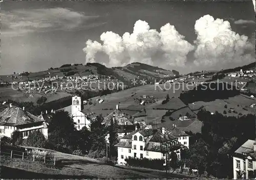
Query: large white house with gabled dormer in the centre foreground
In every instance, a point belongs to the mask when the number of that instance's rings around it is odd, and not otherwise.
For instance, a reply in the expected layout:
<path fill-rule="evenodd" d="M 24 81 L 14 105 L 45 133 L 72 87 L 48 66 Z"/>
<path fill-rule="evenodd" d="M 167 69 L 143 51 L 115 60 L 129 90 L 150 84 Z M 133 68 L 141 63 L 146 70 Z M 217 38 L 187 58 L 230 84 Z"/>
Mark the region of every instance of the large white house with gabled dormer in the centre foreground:
<path fill-rule="evenodd" d="M 172 145 L 179 145 L 177 137 L 165 134 L 162 129 L 137 129 L 132 133 L 123 136 L 120 142 L 115 146 L 118 147 L 118 165 L 125 165 L 125 158 L 152 158 L 165 159 L 163 153 L 163 143 L 170 143 Z M 179 149 L 175 150 L 176 152 Z"/>

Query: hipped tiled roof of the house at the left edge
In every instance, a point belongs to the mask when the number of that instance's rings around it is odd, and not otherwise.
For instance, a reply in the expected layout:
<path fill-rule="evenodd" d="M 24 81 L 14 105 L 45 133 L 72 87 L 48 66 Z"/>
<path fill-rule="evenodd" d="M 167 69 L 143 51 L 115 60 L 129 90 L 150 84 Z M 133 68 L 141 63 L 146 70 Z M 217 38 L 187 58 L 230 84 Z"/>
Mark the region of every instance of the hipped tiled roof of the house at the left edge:
<path fill-rule="evenodd" d="M 18 107 L 9 107 L 0 112 L 0 125 L 2 126 L 18 126 L 44 121 L 44 119 L 40 119 L 39 117 Z"/>

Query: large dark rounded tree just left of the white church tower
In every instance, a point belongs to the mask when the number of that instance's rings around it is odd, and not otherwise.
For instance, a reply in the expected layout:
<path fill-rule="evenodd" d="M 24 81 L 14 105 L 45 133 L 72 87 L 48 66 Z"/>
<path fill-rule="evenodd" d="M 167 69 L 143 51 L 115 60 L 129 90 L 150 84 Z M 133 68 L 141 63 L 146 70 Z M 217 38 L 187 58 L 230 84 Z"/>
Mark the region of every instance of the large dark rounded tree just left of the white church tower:
<path fill-rule="evenodd" d="M 48 143 L 52 144 L 55 150 L 71 153 L 78 148 L 79 133 L 68 112 L 58 111 L 54 114 L 48 130 Z"/>

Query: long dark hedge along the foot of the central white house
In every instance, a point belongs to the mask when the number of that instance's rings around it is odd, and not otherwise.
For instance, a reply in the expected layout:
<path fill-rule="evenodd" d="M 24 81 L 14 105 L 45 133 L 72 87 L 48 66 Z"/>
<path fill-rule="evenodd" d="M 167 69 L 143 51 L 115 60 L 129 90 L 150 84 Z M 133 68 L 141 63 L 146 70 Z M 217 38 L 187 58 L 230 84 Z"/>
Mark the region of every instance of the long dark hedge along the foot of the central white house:
<path fill-rule="evenodd" d="M 164 159 L 148 159 L 148 158 L 125 158 L 125 162 L 129 166 L 137 166 L 137 167 L 144 167 L 144 168 L 151 168 L 151 169 L 164 169 Z"/>

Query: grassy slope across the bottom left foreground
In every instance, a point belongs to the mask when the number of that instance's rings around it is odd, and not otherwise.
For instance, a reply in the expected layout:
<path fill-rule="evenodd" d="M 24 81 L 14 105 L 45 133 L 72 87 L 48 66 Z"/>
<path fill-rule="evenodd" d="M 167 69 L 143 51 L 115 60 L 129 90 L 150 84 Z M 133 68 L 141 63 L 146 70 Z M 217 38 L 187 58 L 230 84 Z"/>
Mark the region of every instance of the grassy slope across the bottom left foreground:
<path fill-rule="evenodd" d="M 82 178 L 195 178 L 185 174 L 168 174 L 145 168 L 112 166 L 95 159 L 55 152 L 61 161 L 57 167 L 40 162 L 1 156 L 1 177 L 4 179 L 82 179 Z"/>

